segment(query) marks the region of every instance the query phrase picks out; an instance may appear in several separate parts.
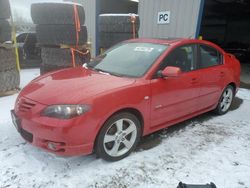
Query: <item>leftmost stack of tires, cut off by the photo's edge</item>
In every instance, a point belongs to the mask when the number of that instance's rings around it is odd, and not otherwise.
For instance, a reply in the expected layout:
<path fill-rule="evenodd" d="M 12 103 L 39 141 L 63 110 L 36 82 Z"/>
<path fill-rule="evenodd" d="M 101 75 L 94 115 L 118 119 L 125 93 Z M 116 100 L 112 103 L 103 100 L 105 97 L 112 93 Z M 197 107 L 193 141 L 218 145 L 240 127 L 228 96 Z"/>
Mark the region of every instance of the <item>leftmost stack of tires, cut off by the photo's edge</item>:
<path fill-rule="evenodd" d="M 11 16 L 9 0 L 0 0 L 0 95 L 19 88 L 20 74 L 16 67 L 16 55 L 11 41 Z"/>

